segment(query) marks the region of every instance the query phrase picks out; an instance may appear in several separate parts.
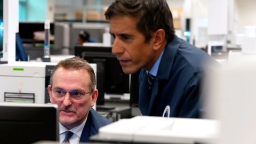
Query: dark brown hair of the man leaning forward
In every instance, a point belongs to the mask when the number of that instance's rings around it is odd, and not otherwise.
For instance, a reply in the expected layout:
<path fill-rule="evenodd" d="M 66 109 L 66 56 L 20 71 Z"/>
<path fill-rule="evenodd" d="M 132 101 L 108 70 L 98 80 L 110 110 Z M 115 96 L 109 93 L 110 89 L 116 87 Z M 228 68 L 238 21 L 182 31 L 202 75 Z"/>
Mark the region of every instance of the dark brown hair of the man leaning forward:
<path fill-rule="evenodd" d="M 167 42 L 174 37 L 172 13 L 165 0 L 116 0 L 105 12 L 107 20 L 114 15 L 137 18 L 137 30 L 145 35 L 146 42 L 158 29 L 164 29 Z"/>

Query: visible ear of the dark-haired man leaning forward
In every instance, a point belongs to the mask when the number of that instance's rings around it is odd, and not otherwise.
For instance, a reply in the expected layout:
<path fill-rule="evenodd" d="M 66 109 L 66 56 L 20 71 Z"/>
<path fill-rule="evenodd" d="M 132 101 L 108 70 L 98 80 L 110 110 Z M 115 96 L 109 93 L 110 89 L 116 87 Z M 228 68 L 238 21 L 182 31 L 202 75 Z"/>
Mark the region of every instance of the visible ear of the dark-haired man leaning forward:
<path fill-rule="evenodd" d="M 157 51 L 160 49 L 165 42 L 165 31 L 163 29 L 158 29 L 154 34 L 154 47 L 153 49 Z"/>

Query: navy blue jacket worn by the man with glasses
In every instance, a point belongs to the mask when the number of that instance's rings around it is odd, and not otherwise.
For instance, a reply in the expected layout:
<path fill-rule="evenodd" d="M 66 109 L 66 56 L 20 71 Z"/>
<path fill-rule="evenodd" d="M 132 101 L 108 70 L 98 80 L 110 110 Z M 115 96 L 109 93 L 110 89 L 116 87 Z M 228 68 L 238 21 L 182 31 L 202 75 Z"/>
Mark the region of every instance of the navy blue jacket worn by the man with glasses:
<path fill-rule="evenodd" d="M 97 113 L 97 111 L 91 108 L 81 134 L 80 142 L 88 142 L 89 137 L 97 134 L 100 127 L 110 123 L 111 122 L 108 119 L 102 117 L 99 113 Z"/>

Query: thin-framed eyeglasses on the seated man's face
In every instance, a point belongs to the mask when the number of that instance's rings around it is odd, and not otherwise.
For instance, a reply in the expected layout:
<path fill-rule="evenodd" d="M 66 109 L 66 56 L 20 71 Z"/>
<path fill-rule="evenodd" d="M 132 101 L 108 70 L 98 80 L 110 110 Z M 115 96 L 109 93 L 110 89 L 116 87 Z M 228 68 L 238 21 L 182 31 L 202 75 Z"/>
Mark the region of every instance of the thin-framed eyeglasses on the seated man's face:
<path fill-rule="evenodd" d="M 82 99 L 85 94 L 90 93 L 90 92 L 83 92 L 83 91 L 77 91 L 77 90 L 66 92 L 65 90 L 62 90 L 62 89 L 52 89 L 52 87 L 50 88 L 50 90 L 53 92 L 53 95 L 57 98 L 64 98 L 66 93 L 69 93 L 71 98 L 77 99 L 77 100 Z"/>

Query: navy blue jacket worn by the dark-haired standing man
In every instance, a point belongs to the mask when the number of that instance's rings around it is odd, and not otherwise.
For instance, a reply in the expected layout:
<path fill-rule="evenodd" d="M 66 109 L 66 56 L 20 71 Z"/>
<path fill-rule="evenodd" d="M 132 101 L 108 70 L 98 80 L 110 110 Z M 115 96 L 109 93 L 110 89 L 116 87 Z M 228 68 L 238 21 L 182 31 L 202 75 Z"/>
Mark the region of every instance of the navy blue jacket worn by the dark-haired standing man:
<path fill-rule="evenodd" d="M 165 47 L 151 95 L 146 70 L 141 70 L 139 108 L 142 115 L 163 116 L 169 107 L 169 117 L 198 118 L 200 84 L 202 76 L 210 69 L 206 62 L 216 63 L 206 52 L 174 36 Z"/>

